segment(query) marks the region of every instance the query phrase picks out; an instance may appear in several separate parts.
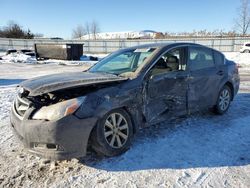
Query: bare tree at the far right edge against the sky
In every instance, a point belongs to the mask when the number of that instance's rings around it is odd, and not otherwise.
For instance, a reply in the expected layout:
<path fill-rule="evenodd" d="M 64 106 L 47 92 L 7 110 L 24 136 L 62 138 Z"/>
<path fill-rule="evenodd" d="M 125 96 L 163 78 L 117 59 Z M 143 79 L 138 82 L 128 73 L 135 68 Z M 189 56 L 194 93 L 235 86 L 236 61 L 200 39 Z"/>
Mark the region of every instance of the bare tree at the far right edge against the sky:
<path fill-rule="evenodd" d="M 235 21 L 236 30 L 243 36 L 247 34 L 250 25 L 250 1 L 241 0 L 241 6 L 238 9 L 238 18 Z"/>

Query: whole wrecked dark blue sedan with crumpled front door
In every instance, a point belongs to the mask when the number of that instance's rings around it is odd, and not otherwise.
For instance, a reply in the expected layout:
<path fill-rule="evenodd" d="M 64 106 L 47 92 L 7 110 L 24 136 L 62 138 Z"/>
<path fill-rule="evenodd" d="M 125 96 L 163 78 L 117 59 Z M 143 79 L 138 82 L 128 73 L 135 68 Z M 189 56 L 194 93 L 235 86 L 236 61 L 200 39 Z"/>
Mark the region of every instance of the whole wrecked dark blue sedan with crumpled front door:
<path fill-rule="evenodd" d="M 84 72 L 22 82 L 11 125 L 24 146 L 50 159 L 125 152 L 136 131 L 213 108 L 239 89 L 236 64 L 192 43 L 147 44 L 112 53 Z"/>

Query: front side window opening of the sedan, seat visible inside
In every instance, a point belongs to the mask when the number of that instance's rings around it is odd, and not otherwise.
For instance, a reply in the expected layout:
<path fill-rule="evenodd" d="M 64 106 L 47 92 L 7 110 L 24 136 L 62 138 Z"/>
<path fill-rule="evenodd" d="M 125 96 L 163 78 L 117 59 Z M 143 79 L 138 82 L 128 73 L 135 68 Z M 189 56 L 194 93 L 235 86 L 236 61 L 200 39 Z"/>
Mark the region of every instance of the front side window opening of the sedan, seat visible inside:
<path fill-rule="evenodd" d="M 185 48 L 175 48 L 163 54 L 153 67 L 152 74 L 162 74 L 186 69 Z"/>

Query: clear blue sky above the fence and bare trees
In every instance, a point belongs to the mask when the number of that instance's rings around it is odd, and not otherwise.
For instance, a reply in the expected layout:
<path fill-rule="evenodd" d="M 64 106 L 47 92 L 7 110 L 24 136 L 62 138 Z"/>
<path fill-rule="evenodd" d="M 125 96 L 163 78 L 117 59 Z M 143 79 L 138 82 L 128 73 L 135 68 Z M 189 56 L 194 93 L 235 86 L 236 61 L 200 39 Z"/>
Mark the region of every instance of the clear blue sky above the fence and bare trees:
<path fill-rule="evenodd" d="M 70 38 L 96 20 L 102 32 L 234 29 L 240 0 L 0 0 L 0 27 L 14 20 L 48 37 Z"/>

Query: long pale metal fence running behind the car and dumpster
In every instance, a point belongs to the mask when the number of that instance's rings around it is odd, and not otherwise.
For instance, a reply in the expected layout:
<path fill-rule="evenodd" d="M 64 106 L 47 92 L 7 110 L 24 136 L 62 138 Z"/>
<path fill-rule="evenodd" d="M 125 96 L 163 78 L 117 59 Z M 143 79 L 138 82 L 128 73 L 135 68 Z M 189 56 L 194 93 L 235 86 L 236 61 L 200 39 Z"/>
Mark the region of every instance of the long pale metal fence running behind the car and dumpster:
<path fill-rule="evenodd" d="M 120 48 L 148 43 L 192 42 L 215 48 L 223 52 L 236 52 L 250 37 L 235 38 L 171 38 L 171 39 L 138 39 L 138 40 L 50 40 L 50 39 L 7 39 L 0 38 L 0 50 L 33 49 L 35 43 L 77 43 L 83 44 L 84 53 L 110 53 Z"/>

